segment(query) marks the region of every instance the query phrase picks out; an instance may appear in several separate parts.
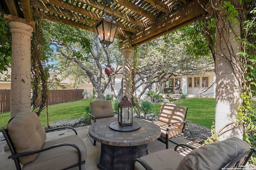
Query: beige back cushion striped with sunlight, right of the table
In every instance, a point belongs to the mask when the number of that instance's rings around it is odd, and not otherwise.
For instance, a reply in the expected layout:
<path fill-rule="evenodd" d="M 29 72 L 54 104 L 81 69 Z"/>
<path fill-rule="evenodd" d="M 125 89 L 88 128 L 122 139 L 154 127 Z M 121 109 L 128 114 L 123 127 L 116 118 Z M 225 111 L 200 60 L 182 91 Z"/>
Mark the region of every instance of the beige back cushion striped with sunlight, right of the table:
<path fill-rule="evenodd" d="M 165 123 L 184 121 L 186 107 L 172 103 L 163 103 L 160 108 L 158 120 Z M 174 126 L 183 128 L 184 123 L 175 123 Z"/>

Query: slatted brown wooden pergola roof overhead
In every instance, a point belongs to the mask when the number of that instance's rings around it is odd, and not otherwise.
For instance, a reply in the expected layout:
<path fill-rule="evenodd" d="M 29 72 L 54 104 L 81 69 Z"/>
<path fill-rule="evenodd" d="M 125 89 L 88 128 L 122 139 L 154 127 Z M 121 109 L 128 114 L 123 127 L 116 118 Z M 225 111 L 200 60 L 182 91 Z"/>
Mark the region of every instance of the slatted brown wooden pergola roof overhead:
<path fill-rule="evenodd" d="M 102 0 L 105 1 L 106 0 Z M 93 25 L 101 18 L 100 0 L 3 0 L 7 15 L 24 18 L 35 28 L 33 16 L 40 16 L 73 27 L 96 32 Z M 108 0 L 109 1 L 109 0 Z M 199 3 L 200 2 L 200 3 Z M 140 45 L 201 18 L 207 0 L 114 0 L 114 17 L 120 27 L 116 38 Z M 112 15 L 112 6 L 104 9 Z M 210 7 L 208 7 L 210 8 Z M 210 10 L 208 9 L 207 10 Z M 5 16 L 8 20 L 8 16 Z M 13 18 L 10 18 L 13 20 Z"/>

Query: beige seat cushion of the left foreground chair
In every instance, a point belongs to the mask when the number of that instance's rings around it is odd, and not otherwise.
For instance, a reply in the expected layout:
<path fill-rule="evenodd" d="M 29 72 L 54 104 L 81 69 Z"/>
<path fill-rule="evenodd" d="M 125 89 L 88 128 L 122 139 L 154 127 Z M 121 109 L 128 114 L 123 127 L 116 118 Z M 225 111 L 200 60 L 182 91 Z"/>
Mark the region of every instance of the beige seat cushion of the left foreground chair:
<path fill-rule="evenodd" d="M 77 135 L 71 135 L 46 141 L 42 148 L 47 148 L 59 143 L 73 143 L 81 151 L 82 161 L 86 160 L 87 152 L 84 142 Z M 22 170 L 60 170 L 78 164 L 78 152 L 74 147 L 62 146 L 40 152 L 34 162 L 23 166 Z"/>

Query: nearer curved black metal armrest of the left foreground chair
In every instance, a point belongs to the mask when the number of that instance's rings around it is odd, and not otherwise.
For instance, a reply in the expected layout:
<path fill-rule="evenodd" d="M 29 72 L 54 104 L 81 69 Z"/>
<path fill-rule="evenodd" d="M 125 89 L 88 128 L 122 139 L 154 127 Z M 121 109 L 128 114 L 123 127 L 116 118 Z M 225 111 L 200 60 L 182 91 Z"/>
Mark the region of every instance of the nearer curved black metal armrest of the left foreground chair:
<path fill-rule="evenodd" d="M 28 156 L 28 155 L 31 155 L 31 154 L 36 154 L 36 153 L 39 153 L 39 152 L 44 152 L 46 150 L 50 150 L 50 149 L 57 148 L 57 147 L 62 147 L 62 146 L 71 146 L 71 147 L 74 147 L 78 151 L 79 170 L 81 170 L 82 169 L 82 155 L 81 155 L 81 151 L 78 148 L 78 146 L 76 146 L 73 143 L 60 143 L 60 144 L 56 144 L 56 145 L 53 145 L 53 146 L 48 147 L 48 148 L 34 150 L 34 151 L 31 151 L 31 152 L 24 152 L 24 153 L 20 153 L 20 154 L 12 154 L 12 155 L 8 156 L 8 159 L 10 159 L 10 158 L 18 158 L 18 157 L 21 157 L 21 156 Z"/>

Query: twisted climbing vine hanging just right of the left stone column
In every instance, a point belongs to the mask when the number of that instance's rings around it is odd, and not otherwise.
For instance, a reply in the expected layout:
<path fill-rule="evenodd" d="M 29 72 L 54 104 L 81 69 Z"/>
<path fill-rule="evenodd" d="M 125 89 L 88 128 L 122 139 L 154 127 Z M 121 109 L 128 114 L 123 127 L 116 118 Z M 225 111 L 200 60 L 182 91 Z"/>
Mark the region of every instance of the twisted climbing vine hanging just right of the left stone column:
<path fill-rule="evenodd" d="M 31 105 L 33 111 L 39 116 L 44 108 L 46 109 L 48 122 L 48 62 L 46 39 L 43 36 L 44 20 L 35 18 L 36 33 L 31 41 Z M 49 125 L 48 125 L 49 126 Z"/>

